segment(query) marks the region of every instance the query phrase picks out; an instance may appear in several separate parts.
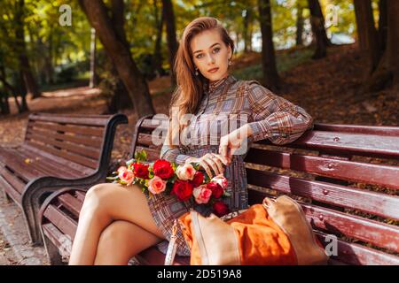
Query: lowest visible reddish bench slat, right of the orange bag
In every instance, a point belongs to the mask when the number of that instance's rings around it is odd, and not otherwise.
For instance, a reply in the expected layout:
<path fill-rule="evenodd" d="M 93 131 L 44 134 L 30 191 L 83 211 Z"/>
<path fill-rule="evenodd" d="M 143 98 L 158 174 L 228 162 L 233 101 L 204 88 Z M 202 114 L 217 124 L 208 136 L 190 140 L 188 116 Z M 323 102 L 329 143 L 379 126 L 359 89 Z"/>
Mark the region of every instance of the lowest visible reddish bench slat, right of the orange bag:
<path fill-rule="evenodd" d="M 326 246 L 330 244 L 331 238 L 326 238 L 328 235 L 319 231 L 315 232 L 317 238 Z M 325 240 L 327 239 L 327 241 Z M 337 240 L 338 258 L 341 262 L 353 265 L 399 265 L 399 256 L 393 256 L 383 253 L 379 250 L 369 249 L 355 243 L 348 243 Z M 332 259 L 337 258 L 332 256 Z"/>

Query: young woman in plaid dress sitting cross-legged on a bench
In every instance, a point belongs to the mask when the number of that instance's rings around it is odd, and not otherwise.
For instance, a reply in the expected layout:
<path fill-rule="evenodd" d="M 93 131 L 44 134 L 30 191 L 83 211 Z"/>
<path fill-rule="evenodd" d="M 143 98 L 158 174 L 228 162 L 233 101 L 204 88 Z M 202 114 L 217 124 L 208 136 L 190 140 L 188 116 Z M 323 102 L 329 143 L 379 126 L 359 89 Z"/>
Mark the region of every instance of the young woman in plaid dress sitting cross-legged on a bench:
<path fill-rule="evenodd" d="M 160 158 L 176 164 L 199 162 L 210 177 L 223 173 L 231 193 L 225 203 L 230 210 L 240 210 L 247 207 L 244 157 L 250 143 L 293 142 L 312 126 L 312 119 L 256 81 L 231 76 L 233 53 L 234 43 L 217 19 L 198 18 L 185 27 L 175 63 L 178 87 Z M 173 220 L 189 209 L 189 203 L 175 196 L 146 199 L 134 185 L 91 187 L 69 264 L 127 264 L 154 244 L 166 253 Z M 177 235 L 176 254 L 189 256 L 182 233 Z"/>

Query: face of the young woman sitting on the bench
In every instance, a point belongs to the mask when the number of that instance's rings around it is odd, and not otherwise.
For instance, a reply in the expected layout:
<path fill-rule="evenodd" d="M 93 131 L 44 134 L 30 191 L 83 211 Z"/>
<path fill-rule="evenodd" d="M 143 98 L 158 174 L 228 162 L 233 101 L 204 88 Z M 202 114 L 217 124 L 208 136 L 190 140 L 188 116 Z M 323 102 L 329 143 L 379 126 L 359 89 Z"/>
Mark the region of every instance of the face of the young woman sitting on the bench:
<path fill-rule="evenodd" d="M 208 80 L 221 80 L 228 74 L 231 47 L 224 44 L 215 29 L 195 35 L 190 42 L 192 59 Z"/>

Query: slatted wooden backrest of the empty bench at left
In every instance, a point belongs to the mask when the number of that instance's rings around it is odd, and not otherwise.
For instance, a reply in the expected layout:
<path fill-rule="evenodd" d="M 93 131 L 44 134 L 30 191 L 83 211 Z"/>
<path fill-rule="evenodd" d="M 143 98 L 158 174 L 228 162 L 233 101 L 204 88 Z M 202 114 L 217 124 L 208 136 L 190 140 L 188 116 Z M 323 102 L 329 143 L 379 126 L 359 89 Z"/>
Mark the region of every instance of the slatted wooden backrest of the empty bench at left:
<path fill-rule="evenodd" d="M 124 115 L 79 115 L 34 113 L 29 115 L 24 146 L 38 149 L 84 173 L 98 170 L 111 155 L 104 149 L 113 138 L 108 128 L 127 123 Z M 108 158 L 109 159 L 109 158 Z"/>

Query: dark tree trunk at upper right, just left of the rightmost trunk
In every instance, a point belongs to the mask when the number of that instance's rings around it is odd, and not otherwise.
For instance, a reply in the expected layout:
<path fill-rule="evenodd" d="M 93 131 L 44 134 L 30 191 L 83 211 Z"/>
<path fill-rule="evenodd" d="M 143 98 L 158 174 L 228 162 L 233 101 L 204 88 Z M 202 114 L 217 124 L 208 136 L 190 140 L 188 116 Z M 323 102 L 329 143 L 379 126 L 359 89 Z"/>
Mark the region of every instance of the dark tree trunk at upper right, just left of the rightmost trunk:
<path fill-rule="evenodd" d="M 379 44 L 372 16 L 372 0 L 354 0 L 357 35 L 362 55 L 366 58 L 368 77 L 379 63 Z"/>

